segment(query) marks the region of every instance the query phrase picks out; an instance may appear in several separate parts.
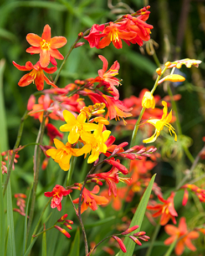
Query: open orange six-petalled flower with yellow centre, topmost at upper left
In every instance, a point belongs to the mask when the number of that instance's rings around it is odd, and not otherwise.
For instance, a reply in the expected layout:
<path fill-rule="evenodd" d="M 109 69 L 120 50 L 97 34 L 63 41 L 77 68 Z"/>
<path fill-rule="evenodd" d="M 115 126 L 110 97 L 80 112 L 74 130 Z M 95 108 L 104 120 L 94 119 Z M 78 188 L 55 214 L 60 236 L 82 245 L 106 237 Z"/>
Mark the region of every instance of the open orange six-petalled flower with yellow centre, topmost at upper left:
<path fill-rule="evenodd" d="M 35 54 L 40 53 L 40 65 L 42 68 L 46 68 L 51 62 L 53 65 L 57 65 L 56 59 L 64 59 L 63 55 L 57 50 L 63 47 L 67 40 L 65 37 L 53 37 L 51 38 L 50 26 L 47 24 L 43 29 L 42 37 L 39 35 L 29 33 L 26 37 L 28 43 L 32 45 L 26 52 Z"/>

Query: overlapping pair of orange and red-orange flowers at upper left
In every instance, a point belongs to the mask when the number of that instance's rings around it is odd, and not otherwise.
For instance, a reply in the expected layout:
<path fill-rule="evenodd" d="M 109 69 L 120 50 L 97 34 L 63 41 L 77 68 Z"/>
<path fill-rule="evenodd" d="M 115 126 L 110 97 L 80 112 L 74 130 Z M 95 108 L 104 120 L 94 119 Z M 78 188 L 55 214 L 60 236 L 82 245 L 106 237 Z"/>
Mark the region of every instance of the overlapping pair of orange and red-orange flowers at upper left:
<path fill-rule="evenodd" d="M 27 86 L 32 82 L 37 86 L 37 90 L 43 90 L 44 81 L 45 83 L 52 85 L 54 88 L 57 86 L 50 81 L 47 76 L 44 75 L 43 71 L 48 74 L 53 74 L 57 70 L 57 61 L 56 59 L 63 60 L 64 57 L 57 50 L 58 48 L 63 47 L 67 40 L 65 37 L 53 37 L 51 38 L 51 29 L 47 24 L 43 29 L 42 37 L 39 35 L 29 33 L 26 37 L 28 43 L 32 45 L 29 47 L 26 52 L 30 54 L 40 54 L 39 61 L 33 65 L 31 62 L 25 63 L 25 66 L 20 66 L 16 62 L 13 62 L 13 65 L 17 69 L 22 71 L 30 71 L 30 73 L 22 76 L 19 80 L 19 86 Z M 49 63 L 52 63 L 54 66 L 48 68 Z"/>

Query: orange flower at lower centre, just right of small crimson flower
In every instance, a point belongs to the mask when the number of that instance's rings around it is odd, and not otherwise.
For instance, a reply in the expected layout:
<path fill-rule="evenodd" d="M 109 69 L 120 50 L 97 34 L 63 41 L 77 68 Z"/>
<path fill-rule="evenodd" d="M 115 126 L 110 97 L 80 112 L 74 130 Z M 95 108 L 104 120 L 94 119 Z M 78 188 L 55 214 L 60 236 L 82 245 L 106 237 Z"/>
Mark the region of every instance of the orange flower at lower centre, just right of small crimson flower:
<path fill-rule="evenodd" d="M 77 184 L 79 187 L 73 187 L 76 190 L 81 190 L 80 183 Z M 86 188 L 83 189 L 83 196 L 82 199 L 84 199 L 83 203 L 81 204 L 81 213 L 83 213 L 88 207 L 95 211 L 98 209 L 98 205 L 106 204 L 108 203 L 108 199 L 104 196 L 96 196 L 100 191 L 100 187 L 96 185 L 92 191 L 87 190 Z M 79 198 L 76 198 L 73 200 L 73 203 L 79 203 Z"/>

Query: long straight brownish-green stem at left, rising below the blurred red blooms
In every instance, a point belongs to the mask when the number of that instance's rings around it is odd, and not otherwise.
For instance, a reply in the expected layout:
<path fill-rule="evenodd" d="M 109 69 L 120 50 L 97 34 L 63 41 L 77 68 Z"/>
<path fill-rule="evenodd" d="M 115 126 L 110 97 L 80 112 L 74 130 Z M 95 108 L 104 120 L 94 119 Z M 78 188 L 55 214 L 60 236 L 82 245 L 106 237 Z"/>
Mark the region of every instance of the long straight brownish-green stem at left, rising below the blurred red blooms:
<path fill-rule="evenodd" d="M 36 143 L 42 144 L 43 141 L 43 135 L 44 135 L 44 129 L 45 129 L 45 119 L 46 115 L 44 112 L 42 123 L 40 124 L 40 129 L 37 136 Z M 28 229 L 27 229 L 27 238 L 30 231 L 30 226 L 33 221 L 34 216 L 34 207 L 35 207 L 35 197 L 37 192 L 37 185 L 38 185 L 38 176 L 39 176 L 39 170 L 40 170 L 40 155 L 41 155 L 41 149 L 37 145 L 35 146 L 34 150 L 34 182 L 33 182 L 33 193 L 32 193 L 32 202 L 30 205 L 30 213 L 29 213 L 29 221 L 28 221 Z"/>

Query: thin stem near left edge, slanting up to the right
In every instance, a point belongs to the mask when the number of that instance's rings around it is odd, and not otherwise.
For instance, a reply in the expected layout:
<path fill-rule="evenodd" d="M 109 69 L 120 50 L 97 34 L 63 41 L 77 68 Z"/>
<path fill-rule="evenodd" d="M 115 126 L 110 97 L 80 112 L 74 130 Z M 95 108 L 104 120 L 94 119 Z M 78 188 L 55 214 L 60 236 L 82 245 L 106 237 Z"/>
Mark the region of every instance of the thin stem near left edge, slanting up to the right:
<path fill-rule="evenodd" d="M 9 178 L 10 178 L 10 175 L 11 175 L 12 166 L 13 166 L 14 158 L 15 158 L 15 155 L 16 155 L 16 152 L 14 150 L 16 150 L 18 148 L 18 146 L 19 146 L 20 139 L 22 137 L 22 132 L 23 132 L 24 120 L 27 119 L 27 117 L 28 117 L 27 114 L 28 114 L 28 111 L 26 110 L 24 115 L 23 115 L 23 117 L 22 117 L 22 119 L 20 119 L 20 125 L 19 125 L 19 129 L 18 129 L 17 140 L 16 140 L 16 143 L 15 143 L 15 145 L 13 147 L 11 161 L 9 163 L 6 180 L 4 182 L 3 196 L 4 196 L 4 194 L 6 193 L 6 190 L 7 190 L 8 181 L 9 181 Z"/>

